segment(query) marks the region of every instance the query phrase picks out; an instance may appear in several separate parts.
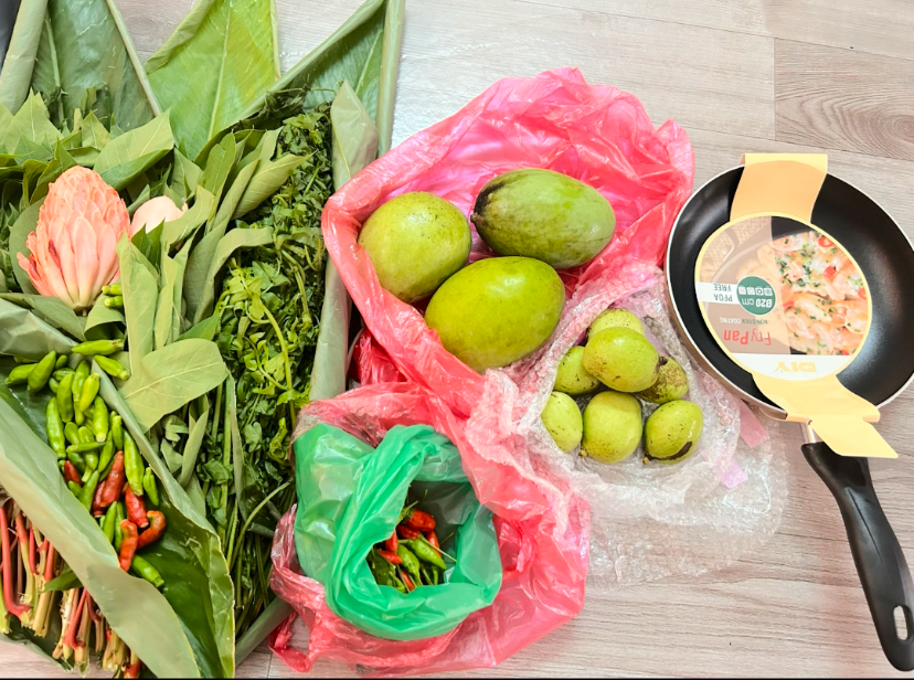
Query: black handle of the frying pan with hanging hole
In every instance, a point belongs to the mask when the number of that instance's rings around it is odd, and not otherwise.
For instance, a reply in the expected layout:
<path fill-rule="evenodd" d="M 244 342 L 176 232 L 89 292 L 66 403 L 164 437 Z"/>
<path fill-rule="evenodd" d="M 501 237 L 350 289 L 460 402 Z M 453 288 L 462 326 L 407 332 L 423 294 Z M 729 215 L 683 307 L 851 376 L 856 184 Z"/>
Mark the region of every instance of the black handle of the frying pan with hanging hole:
<path fill-rule="evenodd" d="M 803 454 L 838 501 L 885 657 L 899 670 L 914 670 L 914 585 L 895 532 L 879 504 L 868 459 L 839 456 L 825 442 L 805 444 Z M 899 638 L 895 627 L 896 607 L 904 613 L 905 639 Z"/>

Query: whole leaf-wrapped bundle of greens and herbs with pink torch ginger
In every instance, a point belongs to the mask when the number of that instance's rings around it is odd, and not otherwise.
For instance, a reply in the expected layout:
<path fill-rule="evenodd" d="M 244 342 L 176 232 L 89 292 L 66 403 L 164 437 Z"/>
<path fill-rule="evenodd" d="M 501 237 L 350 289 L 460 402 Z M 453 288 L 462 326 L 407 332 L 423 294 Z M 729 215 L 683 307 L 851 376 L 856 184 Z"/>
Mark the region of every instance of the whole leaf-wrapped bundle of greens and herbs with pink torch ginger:
<path fill-rule="evenodd" d="M 141 553 L 161 592 L 67 489 L 53 395 L 0 386 L 0 484 L 157 674 L 231 676 L 235 639 L 243 657 L 284 615 L 268 584 L 288 434 L 344 380 L 348 298 L 320 213 L 378 152 L 375 117 L 389 138 L 401 21 L 402 2 L 370 0 L 274 83 L 272 2 L 201 0 L 147 78 L 110 2 L 23 0 L 0 73 L 0 379 L 114 343 L 92 376 L 161 481 L 168 530 Z M 61 241 L 81 211 L 94 231 Z"/>

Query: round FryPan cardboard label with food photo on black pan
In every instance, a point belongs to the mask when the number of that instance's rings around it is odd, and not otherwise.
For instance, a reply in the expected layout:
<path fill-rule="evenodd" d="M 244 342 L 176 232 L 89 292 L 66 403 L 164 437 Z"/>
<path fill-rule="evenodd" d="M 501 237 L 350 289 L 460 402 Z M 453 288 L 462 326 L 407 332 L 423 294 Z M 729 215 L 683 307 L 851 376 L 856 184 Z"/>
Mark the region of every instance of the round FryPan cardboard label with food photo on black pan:
<path fill-rule="evenodd" d="M 847 249 L 780 215 L 718 230 L 699 254 L 695 294 L 731 359 L 783 380 L 838 373 L 863 346 L 872 316 L 867 280 Z"/>

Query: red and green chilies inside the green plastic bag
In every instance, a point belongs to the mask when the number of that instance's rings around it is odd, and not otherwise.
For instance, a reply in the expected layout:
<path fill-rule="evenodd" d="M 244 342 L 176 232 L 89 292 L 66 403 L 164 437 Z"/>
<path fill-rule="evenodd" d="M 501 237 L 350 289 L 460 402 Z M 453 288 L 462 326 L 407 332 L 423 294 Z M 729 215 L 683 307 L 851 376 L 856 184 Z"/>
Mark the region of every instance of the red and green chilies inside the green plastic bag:
<path fill-rule="evenodd" d="M 368 563 L 378 585 L 389 585 L 401 593 L 444 583 L 445 559 L 456 560 L 442 550 L 435 533 L 435 518 L 410 503 L 400 513 L 391 538 L 374 545 Z"/>

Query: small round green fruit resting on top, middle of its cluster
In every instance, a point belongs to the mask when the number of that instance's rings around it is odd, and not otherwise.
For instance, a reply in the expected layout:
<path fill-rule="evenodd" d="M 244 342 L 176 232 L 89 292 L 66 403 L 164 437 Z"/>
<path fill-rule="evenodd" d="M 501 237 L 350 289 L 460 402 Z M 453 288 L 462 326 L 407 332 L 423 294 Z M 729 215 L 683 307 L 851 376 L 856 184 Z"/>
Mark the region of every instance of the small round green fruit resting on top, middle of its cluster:
<path fill-rule="evenodd" d="M 584 368 L 619 392 L 640 392 L 657 382 L 660 355 L 650 341 L 630 328 L 607 328 L 584 348 Z"/>

